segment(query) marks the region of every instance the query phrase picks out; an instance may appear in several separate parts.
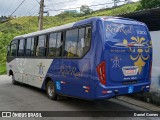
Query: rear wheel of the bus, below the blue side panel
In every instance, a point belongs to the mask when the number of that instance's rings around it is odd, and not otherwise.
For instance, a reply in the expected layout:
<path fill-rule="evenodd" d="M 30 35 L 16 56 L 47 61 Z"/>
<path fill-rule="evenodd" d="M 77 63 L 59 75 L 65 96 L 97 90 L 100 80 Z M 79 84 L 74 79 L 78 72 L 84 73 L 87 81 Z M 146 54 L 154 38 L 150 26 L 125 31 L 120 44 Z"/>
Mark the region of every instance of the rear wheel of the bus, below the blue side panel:
<path fill-rule="evenodd" d="M 51 80 L 48 81 L 46 88 L 47 88 L 46 92 L 47 92 L 48 98 L 51 99 L 51 100 L 57 100 L 55 85 Z"/>

